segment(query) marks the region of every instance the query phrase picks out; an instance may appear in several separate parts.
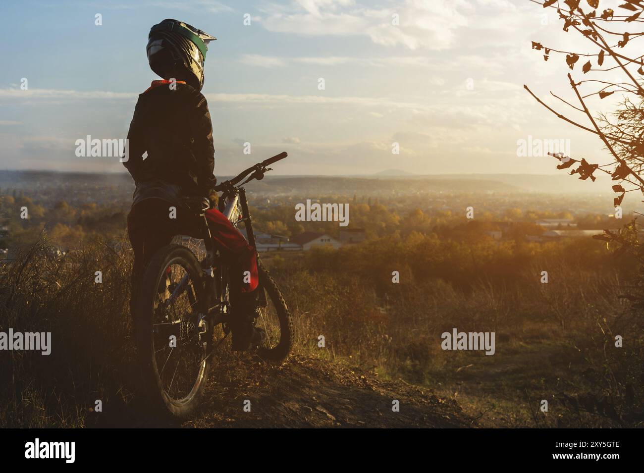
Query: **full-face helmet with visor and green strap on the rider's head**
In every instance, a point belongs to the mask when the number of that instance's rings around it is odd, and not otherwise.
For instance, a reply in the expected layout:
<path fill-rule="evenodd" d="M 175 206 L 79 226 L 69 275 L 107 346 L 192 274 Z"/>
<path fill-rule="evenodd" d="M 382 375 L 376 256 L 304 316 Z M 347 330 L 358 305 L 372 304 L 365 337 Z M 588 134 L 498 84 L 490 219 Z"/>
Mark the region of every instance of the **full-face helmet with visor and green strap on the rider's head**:
<path fill-rule="evenodd" d="M 204 87 L 205 53 L 214 36 L 182 21 L 165 19 L 150 29 L 147 39 L 151 70 L 164 79 L 183 79 L 197 90 Z"/>

